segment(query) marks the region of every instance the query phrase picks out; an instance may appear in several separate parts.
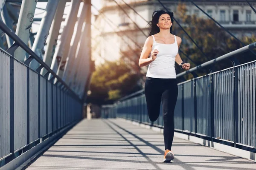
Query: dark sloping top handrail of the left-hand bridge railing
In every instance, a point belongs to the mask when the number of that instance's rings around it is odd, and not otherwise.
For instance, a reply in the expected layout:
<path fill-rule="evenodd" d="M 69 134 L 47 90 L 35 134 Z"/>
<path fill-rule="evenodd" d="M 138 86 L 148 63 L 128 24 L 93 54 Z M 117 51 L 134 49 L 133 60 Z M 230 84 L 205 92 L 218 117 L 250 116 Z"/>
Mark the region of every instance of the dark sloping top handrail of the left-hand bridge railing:
<path fill-rule="evenodd" d="M 45 68 L 48 73 L 51 73 L 53 77 L 55 77 L 58 82 L 61 82 L 62 85 L 64 85 L 65 88 L 67 88 L 67 90 L 69 90 L 71 92 L 71 94 L 73 94 L 77 99 L 79 99 L 81 101 L 81 99 L 79 98 L 79 96 L 66 84 L 66 82 L 64 82 L 54 71 L 52 71 L 51 68 L 49 68 L 49 66 L 40 59 L 40 57 L 37 56 L 37 54 L 35 54 L 34 51 L 32 51 L 32 49 L 30 49 L 16 34 L 15 32 L 12 31 L 12 29 L 10 29 L 8 26 L 6 26 L 3 21 L 0 21 L 0 29 L 6 33 L 10 38 L 12 38 L 12 40 L 15 41 L 15 43 L 17 45 L 19 45 L 21 48 L 23 48 L 23 50 L 25 50 L 30 57 L 32 57 L 33 59 L 35 59 L 39 64 L 41 64 L 39 67 L 41 68 Z M 15 45 L 15 44 L 14 44 Z M 12 48 L 12 47 L 10 47 Z M 28 65 L 29 66 L 29 65 Z M 42 67 L 43 66 L 43 67 Z M 40 73 L 39 73 L 40 74 Z M 56 83 L 55 83 L 56 84 Z"/>

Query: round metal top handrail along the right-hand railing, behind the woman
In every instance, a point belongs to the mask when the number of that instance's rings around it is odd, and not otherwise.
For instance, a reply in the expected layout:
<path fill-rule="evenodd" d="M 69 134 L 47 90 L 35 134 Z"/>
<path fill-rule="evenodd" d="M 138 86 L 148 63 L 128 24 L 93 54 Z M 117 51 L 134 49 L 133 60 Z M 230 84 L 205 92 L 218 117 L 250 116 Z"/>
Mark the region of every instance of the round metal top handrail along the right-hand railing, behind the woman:
<path fill-rule="evenodd" d="M 214 63 L 216 63 L 216 62 L 220 62 L 220 61 L 222 61 L 222 60 L 224 60 L 224 59 L 233 57 L 233 56 L 235 56 L 235 55 L 237 55 L 237 54 L 244 53 L 245 51 L 252 50 L 252 49 L 254 49 L 254 48 L 256 48 L 256 42 L 253 42 L 253 43 L 251 43 L 251 44 L 249 44 L 249 45 L 246 45 L 246 46 L 244 46 L 244 47 L 242 47 L 242 48 L 239 48 L 239 49 L 237 49 L 237 50 L 235 50 L 235 51 L 231 51 L 231 52 L 229 52 L 229 53 L 227 53 L 227 54 L 224 54 L 224 55 L 222 55 L 222 56 L 220 56 L 220 57 L 218 57 L 218 58 L 215 58 L 215 59 L 212 59 L 212 60 L 210 60 L 210 61 L 204 62 L 204 63 L 201 64 L 201 65 L 198 65 L 198 66 L 196 66 L 196 67 L 194 67 L 194 68 L 189 69 L 188 71 L 184 71 L 184 72 L 182 72 L 182 73 L 180 73 L 180 74 L 177 74 L 176 77 L 181 77 L 181 76 L 184 76 L 184 75 L 186 75 L 186 74 L 195 72 L 195 71 L 197 71 L 197 70 L 199 70 L 199 69 L 205 68 L 205 67 L 207 67 L 207 66 L 209 66 L 209 65 L 212 65 L 212 64 L 214 64 Z M 117 100 L 117 101 L 120 102 L 120 101 L 122 101 L 122 100 L 131 98 L 132 96 L 136 96 L 136 95 L 138 95 L 138 94 L 141 94 L 141 93 L 143 93 L 143 92 L 144 92 L 144 89 L 142 89 L 142 90 L 140 90 L 140 91 L 137 91 L 137 92 L 135 92 L 135 93 L 133 93 L 133 94 L 129 94 L 128 96 L 122 97 L 121 99 L 119 99 L 119 100 Z"/>

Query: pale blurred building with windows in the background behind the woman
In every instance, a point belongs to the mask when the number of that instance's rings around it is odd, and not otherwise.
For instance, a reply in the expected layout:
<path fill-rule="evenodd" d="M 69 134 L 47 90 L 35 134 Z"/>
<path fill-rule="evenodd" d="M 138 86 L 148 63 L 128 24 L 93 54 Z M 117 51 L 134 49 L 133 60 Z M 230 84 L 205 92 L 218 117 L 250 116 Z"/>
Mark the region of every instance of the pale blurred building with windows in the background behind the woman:
<path fill-rule="evenodd" d="M 256 0 L 248 1 L 256 8 Z M 148 23 L 124 2 L 134 8 L 147 21 L 151 20 L 153 11 L 163 9 L 157 0 L 102 0 L 101 13 L 94 23 L 97 29 L 102 32 L 99 33 L 92 28 L 93 37 L 96 37 L 93 41 L 95 46 L 93 57 L 95 57 L 96 63 L 99 55 L 102 58 L 113 60 L 121 57 L 123 52 L 127 52 L 132 59 L 139 58 L 139 53 L 136 56 L 135 52 L 143 46 L 146 36 L 137 26 L 148 35 Z M 161 0 L 161 2 L 166 8 L 174 12 L 174 15 L 177 12 L 178 3 L 182 2 L 186 4 L 188 15 L 195 14 L 198 17 L 207 18 L 189 0 Z M 256 34 L 256 14 L 245 0 L 195 0 L 194 2 L 235 36 Z M 116 3 L 125 10 L 131 19 Z"/>

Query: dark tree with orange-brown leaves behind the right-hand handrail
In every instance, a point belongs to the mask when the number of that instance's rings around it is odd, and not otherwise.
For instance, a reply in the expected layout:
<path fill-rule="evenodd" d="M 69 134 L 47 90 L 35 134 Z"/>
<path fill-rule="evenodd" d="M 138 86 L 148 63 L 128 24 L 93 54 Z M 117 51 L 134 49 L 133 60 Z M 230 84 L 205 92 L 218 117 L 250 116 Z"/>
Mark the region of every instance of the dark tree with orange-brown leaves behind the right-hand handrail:
<path fill-rule="evenodd" d="M 180 49 L 189 56 L 196 65 L 200 65 L 204 62 L 207 62 L 211 59 L 215 59 L 224 54 L 227 54 L 231 51 L 239 49 L 243 47 L 243 45 L 233 38 L 230 34 L 228 34 L 224 29 L 216 25 L 210 18 L 206 17 L 196 17 L 195 15 L 187 15 L 187 8 L 184 4 L 180 3 L 177 7 L 177 13 L 175 18 L 178 18 L 178 22 L 182 24 L 183 28 L 189 34 L 190 37 L 198 44 L 201 48 L 201 51 L 196 47 L 196 45 L 189 39 L 189 37 L 182 31 L 177 23 L 174 23 L 174 31 L 175 34 L 180 36 L 183 40 Z M 252 37 L 243 36 L 240 40 L 248 45 L 252 42 L 256 42 L 256 36 L 252 35 Z M 241 57 L 244 55 L 246 57 Z M 240 63 L 245 63 L 249 61 L 253 61 L 256 59 L 256 56 L 250 51 L 244 54 L 241 54 L 239 57 L 236 57 Z M 181 55 L 182 59 L 189 62 L 186 57 Z M 196 65 L 192 64 L 192 67 Z M 230 60 L 219 62 L 216 65 L 213 65 L 215 71 L 228 68 L 232 66 L 232 62 Z M 191 67 L 191 68 L 192 68 Z M 177 73 L 182 70 L 176 69 Z M 197 74 L 203 75 L 206 74 L 207 70 L 198 71 Z M 187 77 L 188 79 L 192 78 L 192 75 Z"/>

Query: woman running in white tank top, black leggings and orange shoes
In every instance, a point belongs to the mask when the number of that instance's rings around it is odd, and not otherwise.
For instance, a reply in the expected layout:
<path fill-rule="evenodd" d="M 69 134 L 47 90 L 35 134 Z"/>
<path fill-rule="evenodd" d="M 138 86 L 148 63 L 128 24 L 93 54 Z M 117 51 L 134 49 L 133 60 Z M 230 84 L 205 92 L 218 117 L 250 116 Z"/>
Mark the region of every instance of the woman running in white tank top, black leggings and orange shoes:
<path fill-rule="evenodd" d="M 181 38 L 172 34 L 173 13 L 154 11 L 150 22 L 149 37 L 140 55 L 140 67 L 148 66 L 145 82 L 145 97 L 149 119 L 154 122 L 159 116 L 160 103 L 163 105 L 164 162 L 174 159 L 171 151 L 174 137 L 174 109 L 178 88 L 175 62 L 180 68 L 189 70 L 178 54 Z"/>

